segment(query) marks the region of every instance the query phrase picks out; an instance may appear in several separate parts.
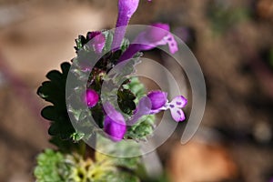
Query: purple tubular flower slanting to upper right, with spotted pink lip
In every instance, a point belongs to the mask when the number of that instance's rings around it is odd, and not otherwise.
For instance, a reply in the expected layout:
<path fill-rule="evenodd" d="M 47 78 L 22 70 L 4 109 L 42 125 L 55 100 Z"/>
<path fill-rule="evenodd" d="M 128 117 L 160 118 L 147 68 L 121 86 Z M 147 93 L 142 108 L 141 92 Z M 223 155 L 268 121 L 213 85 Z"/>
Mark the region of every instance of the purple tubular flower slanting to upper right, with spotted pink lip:
<path fill-rule="evenodd" d="M 153 49 L 157 45 L 168 45 L 170 53 L 175 54 L 177 52 L 177 41 L 169 32 L 169 25 L 153 24 L 146 31 L 137 35 L 133 43 L 129 45 L 125 53 L 120 57 L 119 62 L 130 59 L 139 51 Z"/>

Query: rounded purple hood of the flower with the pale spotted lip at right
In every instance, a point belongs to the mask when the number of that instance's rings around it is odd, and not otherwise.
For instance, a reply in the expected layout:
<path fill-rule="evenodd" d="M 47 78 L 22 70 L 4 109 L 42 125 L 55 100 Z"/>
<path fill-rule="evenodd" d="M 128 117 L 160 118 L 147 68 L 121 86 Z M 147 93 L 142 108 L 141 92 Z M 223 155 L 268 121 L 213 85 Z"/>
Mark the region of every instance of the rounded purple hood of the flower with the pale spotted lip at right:
<path fill-rule="evenodd" d="M 167 93 L 160 90 L 149 92 L 147 97 L 151 101 L 153 110 L 159 109 L 167 103 Z"/>

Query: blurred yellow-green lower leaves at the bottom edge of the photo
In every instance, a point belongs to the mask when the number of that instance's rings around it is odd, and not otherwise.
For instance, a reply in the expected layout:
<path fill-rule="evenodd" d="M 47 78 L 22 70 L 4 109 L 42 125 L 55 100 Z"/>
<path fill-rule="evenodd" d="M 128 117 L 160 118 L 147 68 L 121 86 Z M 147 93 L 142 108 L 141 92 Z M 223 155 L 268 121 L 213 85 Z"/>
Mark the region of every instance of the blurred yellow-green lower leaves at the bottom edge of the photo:
<path fill-rule="evenodd" d="M 37 157 L 37 182 L 108 182 L 140 181 L 130 170 L 136 167 L 136 158 L 119 160 L 116 157 L 96 155 L 96 162 L 75 155 L 63 155 L 46 149 Z"/>

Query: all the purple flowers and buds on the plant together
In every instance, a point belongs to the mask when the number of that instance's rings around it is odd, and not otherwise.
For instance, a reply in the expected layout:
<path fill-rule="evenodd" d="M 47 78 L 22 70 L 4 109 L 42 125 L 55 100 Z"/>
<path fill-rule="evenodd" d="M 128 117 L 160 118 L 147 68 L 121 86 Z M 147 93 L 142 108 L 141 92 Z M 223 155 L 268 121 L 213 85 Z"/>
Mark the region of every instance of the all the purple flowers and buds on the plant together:
<path fill-rule="evenodd" d="M 131 16 L 136 12 L 139 0 L 119 0 L 118 2 L 118 18 L 116 22 L 116 32 L 114 35 L 112 49 L 119 49 L 124 35 L 126 33 L 126 25 Z M 101 32 L 93 32 L 89 34 L 89 38 L 93 38 L 90 46 L 96 53 L 102 53 L 106 44 L 106 37 Z M 175 54 L 178 50 L 177 42 L 173 35 L 169 33 L 169 25 L 153 24 L 147 30 L 136 36 L 136 39 L 128 46 L 126 51 L 119 58 L 119 62 L 125 61 L 137 52 L 155 48 L 157 45 L 168 45 L 169 51 Z M 90 108 L 96 106 L 99 96 L 92 89 L 86 90 L 85 101 Z M 134 125 L 141 116 L 154 115 L 160 111 L 170 110 L 171 116 L 177 122 L 185 120 L 182 107 L 187 105 L 187 99 L 183 96 L 177 96 L 168 102 L 167 93 L 162 91 L 152 91 L 147 96 L 142 97 L 136 110 L 129 120 L 125 120 L 124 116 L 116 111 L 115 107 L 110 103 L 103 104 L 105 119 L 104 130 L 113 141 L 120 141 L 126 134 L 126 125 Z"/>

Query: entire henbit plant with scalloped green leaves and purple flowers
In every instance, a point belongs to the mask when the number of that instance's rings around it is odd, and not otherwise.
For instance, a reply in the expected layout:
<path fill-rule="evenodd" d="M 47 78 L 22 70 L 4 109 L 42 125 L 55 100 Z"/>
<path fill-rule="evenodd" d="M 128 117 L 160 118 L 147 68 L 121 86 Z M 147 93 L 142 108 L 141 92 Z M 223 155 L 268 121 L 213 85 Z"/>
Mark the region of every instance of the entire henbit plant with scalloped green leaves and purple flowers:
<path fill-rule="evenodd" d="M 48 81 L 38 88 L 37 94 L 52 104 L 45 106 L 41 114 L 50 121 L 48 134 L 57 149 L 45 149 L 37 157 L 34 171 L 37 182 L 140 181 L 144 173 L 141 157 L 107 156 L 96 152 L 85 141 L 93 139 L 96 148 L 107 147 L 104 140 L 96 136 L 102 129 L 104 136 L 124 148 L 126 154 L 134 153 L 139 148 L 120 141 L 146 140 L 154 131 L 157 113 L 169 109 L 175 121 L 186 119 L 182 111 L 187 105 L 184 96 L 169 102 L 166 92 L 156 90 L 146 94 L 145 86 L 136 76 L 126 77 L 134 72 L 143 51 L 168 45 L 172 54 L 177 52 L 177 42 L 166 24 L 149 26 L 129 44 L 125 38 L 126 25 L 138 3 L 139 0 L 119 0 L 115 33 L 103 30 L 79 35 L 76 57 L 71 63 L 61 65 L 62 72 L 50 71 L 46 75 Z M 158 32 L 158 28 L 164 31 Z M 92 60 L 94 56 L 99 57 L 98 61 Z M 108 76 L 115 66 L 122 64 L 123 71 Z M 68 76 L 75 81 L 73 84 L 81 83 L 83 78 L 87 82 L 67 90 Z M 115 102 L 116 106 L 112 104 Z M 88 108 L 87 112 L 81 105 Z M 71 116 L 82 130 L 73 126 Z M 93 118 L 94 123 L 89 118 Z M 115 152 L 116 148 L 112 148 L 112 153 Z"/>

